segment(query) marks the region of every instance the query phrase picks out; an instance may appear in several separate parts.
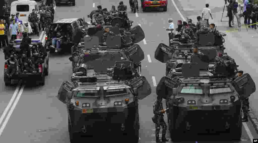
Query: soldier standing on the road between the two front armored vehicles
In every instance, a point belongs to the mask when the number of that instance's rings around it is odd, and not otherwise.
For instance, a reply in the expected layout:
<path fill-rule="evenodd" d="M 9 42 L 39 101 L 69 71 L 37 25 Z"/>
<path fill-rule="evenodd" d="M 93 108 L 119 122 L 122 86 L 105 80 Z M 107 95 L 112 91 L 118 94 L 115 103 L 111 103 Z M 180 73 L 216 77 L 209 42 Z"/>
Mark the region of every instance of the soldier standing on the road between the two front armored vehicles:
<path fill-rule="evenodd" d="M 167 125 L 166 125 L 166 123 L 164 121 L 164 117 L 163 117 L 164 116 L 163 113 L 165 113 L 165 112 L 166 112 L 166 110 L 163 109 L 163 105 L 162 105 L 162 97 L 157 96 L 157 100 L 153 104 L 153 113 L 157 119 L 157 123 L 155 124 L 156 142 L 168 141 L 168 139 L 166 139 Z M 160 139 L 159 139 L 160 126 L 162 126 L 162 138 L 161 138 L 162 141 L 160 141 Z"/>

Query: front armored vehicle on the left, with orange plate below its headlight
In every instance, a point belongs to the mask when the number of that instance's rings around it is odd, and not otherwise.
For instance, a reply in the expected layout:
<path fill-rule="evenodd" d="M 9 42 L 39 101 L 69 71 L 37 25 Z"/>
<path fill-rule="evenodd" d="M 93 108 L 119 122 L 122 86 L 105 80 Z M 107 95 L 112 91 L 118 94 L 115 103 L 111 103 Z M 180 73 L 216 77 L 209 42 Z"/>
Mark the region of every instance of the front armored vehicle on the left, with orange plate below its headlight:
<path fill-rule="evenodd" d="M 138 142 L 138 100 L 151 94 L 150 84 L 125 52 L 98 52 L 88 55 L 74 69 L 71 81 L 64 81 L 58 91 L 58 99 L 67 104 L 70 141 L 78 140 L 78 132 L 100 129 L 98 132 L 107 130 L 106 134 L 110 129 Z M 101 59 L 95 57 L 100 54 Z"/>

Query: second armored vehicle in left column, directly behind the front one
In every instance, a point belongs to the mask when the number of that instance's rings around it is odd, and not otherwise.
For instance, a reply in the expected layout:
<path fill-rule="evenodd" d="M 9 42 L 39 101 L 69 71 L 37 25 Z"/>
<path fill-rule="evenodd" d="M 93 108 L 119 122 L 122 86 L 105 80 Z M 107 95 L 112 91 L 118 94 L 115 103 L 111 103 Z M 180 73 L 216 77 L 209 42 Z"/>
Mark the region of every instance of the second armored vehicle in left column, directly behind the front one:
<path fill-rule="evenodd" d="M 122 60 L 128 58 L 132 61 L 135 68 L 141 66 L 141 61 L 144 59 L 144 53 L 138 44 L 144 39 L 144 32 L 140 26 L 134 28 L 131 35 L 126 35 L 123 38 L 118 35 L 118 27 L 110 27 L 112 33 L 117 35 L 109 35 L 106 39 L 106 44 L 103 45 L 103 33 L 104 31 L 98 31 L 93 36 L 85 36 L 84 42 L 80 42 L 75 49 L 72 49 L 72 67 L 78 67 L 80 64 L 86 61 L 92 61 L 96 59 L 107 60 Z M 137 32 L 138 31 L 138 32 Z M 131 37 L 133 38 L 133 41 Z M 112 63 L 113 64 L 113 63 Z M 113 65 L 112 65 L 113 66 Z"/>

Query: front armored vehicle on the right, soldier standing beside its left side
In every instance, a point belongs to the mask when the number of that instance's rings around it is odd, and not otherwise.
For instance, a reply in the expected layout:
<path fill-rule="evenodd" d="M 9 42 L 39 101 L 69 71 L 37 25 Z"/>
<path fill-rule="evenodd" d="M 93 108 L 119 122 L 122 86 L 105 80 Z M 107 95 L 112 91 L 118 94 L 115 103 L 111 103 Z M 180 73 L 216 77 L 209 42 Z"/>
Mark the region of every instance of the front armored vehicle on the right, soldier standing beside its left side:
<path fill-rule="evenodd" d="M 255 92 L 255 83 L 248 73 L 236 79 L 223 73 L 212 74 L 208 72 L 209 63 L 201 57 L 207 59 L 205 55 L 194 56 L 192 63 L 183 63 L 181 72 L 174 69 L 157 86 L 157 95 L 169 99 L 171 138 L 173 141 L 239 140 L 240 99 Z"/>

